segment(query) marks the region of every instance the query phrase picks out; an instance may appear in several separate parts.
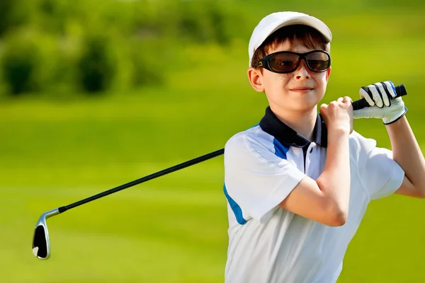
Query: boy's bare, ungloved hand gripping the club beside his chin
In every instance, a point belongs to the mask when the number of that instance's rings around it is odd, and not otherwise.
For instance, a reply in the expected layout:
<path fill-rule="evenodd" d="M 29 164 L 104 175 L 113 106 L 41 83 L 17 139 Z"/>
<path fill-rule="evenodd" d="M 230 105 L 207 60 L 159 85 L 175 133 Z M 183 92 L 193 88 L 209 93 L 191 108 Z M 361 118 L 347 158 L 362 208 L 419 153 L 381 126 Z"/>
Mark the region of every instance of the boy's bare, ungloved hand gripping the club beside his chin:
<path fill-rule="evenodd" d="M 343 129 L 350 134 L 353 132 L 353 106 L 351 103 L 353 100 L 345 96 L 332 101 L 329 105 L 325 103 L 320 105 L 320 114 L 322 114 L 329 131 Z"/>

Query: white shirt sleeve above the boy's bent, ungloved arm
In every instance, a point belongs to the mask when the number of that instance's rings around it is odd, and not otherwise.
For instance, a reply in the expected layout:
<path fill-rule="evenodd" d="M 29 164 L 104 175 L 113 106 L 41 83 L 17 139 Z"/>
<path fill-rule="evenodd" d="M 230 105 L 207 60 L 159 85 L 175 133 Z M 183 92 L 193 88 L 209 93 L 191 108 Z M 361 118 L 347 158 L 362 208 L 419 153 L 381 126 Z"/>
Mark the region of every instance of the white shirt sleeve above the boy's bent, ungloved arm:
<path fill-rule="evenodd" d="M 242 210 L 265 223 L 305 174 L 244 134 L 225 146 L 225 186 Z"/>

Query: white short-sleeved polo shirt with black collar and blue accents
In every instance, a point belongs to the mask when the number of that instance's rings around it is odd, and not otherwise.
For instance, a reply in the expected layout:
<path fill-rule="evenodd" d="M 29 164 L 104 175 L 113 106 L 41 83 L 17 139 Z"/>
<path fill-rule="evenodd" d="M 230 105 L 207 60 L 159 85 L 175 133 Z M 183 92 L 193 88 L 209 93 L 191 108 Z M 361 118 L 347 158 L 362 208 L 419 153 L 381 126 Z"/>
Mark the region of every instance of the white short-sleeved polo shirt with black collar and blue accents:
<path fill-rule="evenodd" d="M 370 200 L 391 195 L 402 184 L 404 172 L 392 152 L 353 132 L 346 224 L 326 226 L 278 207 L 305 175 L 316 180 L 322 173 L 327 129 L 320 115 L 314 137 L 308 141 L 267 108 L 259 125 L 227 141 L 225 282 L 336 282 Z"/>

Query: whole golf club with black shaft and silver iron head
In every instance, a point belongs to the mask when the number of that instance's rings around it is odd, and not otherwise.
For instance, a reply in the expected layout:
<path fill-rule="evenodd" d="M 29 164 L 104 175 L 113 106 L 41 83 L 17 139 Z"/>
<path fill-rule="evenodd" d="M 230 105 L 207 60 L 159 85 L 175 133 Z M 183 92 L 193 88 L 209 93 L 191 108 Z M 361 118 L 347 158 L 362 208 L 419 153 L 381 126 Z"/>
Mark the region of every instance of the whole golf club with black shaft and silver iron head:
<path fill-rule="evenodd" d="M 395 87 L 397 97 L 404 96 L 407 94 L 406 88 L 404 85 L 399 85 Z M 358 110 L 361 108 L 368 107 L 367 101 L 362 98 L 361 100 L 356 100 L 353 102 L 353 109 Z M 160 176 L 172 173 L 174 171 L 179 171 L 183 168 L 195 165 L 197 163 L 206 161 L 210 158 L 214 158 L 216 156 L 220 156 L 225 153 L 225 149 L 219 149 L 217 151 L 213 151 L 210 154 L 205 154 L 203 156 L 200 156 L 198 158 L 191 159 L 189 161 L 180 163 L 176 166 L 172 166 L 170 168 L 166 168 L 162 171 L 158 171 L 157 173 L 152 173 L 151 175 L 147 175 L 145 177 L 142 177 L 137 180 L 133 180 L 130 183 L 125 183 L 124 185 L 120 185 L 118 187 L 114 187 L 111 190 L 106 190 L 104 192 L 98 193 L 97 195 L 93 195 L 91 197 L 87 197 L 84 200 L 80 200 L 78 202 L 74 202 L 72 204 L 65 205 L 64 207 L 58 207 L 55 209 L 52 209 L 48 212 L 45 212 L 41 214 L 40 218 L 37 221 L 37 224 L 35 225 L 35 231 L 33 235 L 33 254 L 42 260 L 47 260 L 50 258 L 50 238 L 49 238 L 49 231 L 47 230 L 47 219 L 55 216 L 57 214 L 61 214 L 62 212 L 66 212 L 68 209 L 72 209 L 74 207 L 78 207 L 81 204 L 86 204 L 87 202 L 91 202 L 93 200 L 97 200 L 101 197 L 105 197 L 107 195 L 111 195 L 114 192 L 118 192 L 120 190 L 124 190 L 128 187 L 132 187 L 134 185 L 138 185 L 140 183 L 144 183 L 148 180 L 152 180 L 154 178 L 158 178 Z"/>

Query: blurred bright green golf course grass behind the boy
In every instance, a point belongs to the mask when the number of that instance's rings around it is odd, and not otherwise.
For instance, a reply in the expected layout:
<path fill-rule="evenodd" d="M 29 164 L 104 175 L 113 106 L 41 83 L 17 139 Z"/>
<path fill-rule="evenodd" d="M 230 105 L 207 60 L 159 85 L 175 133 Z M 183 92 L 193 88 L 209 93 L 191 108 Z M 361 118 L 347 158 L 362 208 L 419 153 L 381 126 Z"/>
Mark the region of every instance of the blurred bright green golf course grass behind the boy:
<path fill-rule="evenodd" d="M 421 11 L 403 13 L 400 26 L 366 15 L 360 30 L 353 16 L 343 24 L 342 15 L 327 14 L 335 40 L 324 102 L 357 99 L 358 88 L 375 81 L 405 83 L 407 117 L 425 149 L 424 108 L 414 103 L 423 92 L 425 37 L 413 37 L 407 25 L 419 21 Z M 367 24 L 373 21 L 397 26 L 395 37 L 371 38 L 364 29 L 377 33 Z M 37 260 L 30 250 L 42 212 L 220 149 L 259 122 L 266 99 L 246 79 L 246 42 L 188 47 L 185 54 L 186 65 L 162 88 L 0 105 L 1 282 L 223 282 L 222 156 L 55 216 L 48 220 L 52 258 Z M 191 60 L 198 63 L 188 68 Z M 390 145 L 378 120 L 356 120 L 355 129 Z M 339 282 L 423 281 L 424 215 L 421 200 L 372 202 Z"/>

